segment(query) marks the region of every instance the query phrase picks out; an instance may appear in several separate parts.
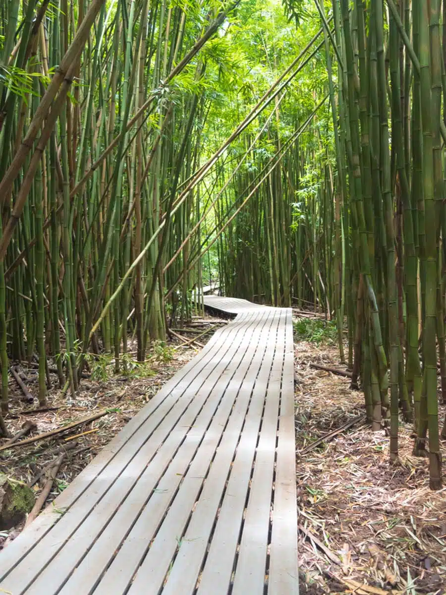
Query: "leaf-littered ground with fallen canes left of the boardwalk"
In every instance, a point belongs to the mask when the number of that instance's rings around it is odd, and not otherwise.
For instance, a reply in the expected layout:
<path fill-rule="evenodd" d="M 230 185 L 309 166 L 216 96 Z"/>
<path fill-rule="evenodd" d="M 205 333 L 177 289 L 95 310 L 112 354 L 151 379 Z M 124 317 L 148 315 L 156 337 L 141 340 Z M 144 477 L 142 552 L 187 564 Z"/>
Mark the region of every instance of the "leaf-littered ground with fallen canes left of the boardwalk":
<path fill-rule="evenodd" d="M 11 435 L 16 435 L 25 422 L 36 424 L 32 434 L 24 436 L 36 438 L 40 434 L 63 430 L 68 424 L 81 421 L 95 414 L 101 417 L 84 422 L 77 427 L 56 434 L 53 437 L 37 440 L 30 444 L 0 450 L 0 473 L 5 473 L 15 480 L 29 485 L 36 494 L 42 491 L 52 469 L 61 453 L 65 453 L 61 468 L 57 472 L 51 493 L 46 500 L 50 503 L 74 478 L 89 464 L 103 447 L 137 414 L 146 403 L 180 368 L 205 345 L 215 330 L 227 321 L 205 315 L 194 317 L 190 324 L 175 331 L 167 343 L 155 343 L 147 350 L 144 364 L 134 361 L 136 344 L 129 343 L 129 354 L 126 358 L 127 373 L 114 374 L 112 356 L 89 358 L 89 369 L 86 378 L 81 380 L 80 393 L 76 399 L 62 394 L 54 371 L 51 372 L 52 388 L 48 392 L 48 410 L 36 411 L 39 408 L 37 399 L 33 403 L 24 404 L 23 392 L 10 375 L 8 386 L 10 395 L 10 412 L 5 417 Z M 197 339 L 199 345 L 183 345 L 203 331 L 205 336 Z M 180 338 L 181 337 L 181 338 Z M 132 351 L 133 350 L 133 351 Z M 38 378 L 35 365 L 21 364 L 15 366 L 18 375 L 32 395 L 37 395 Z M 51 368 L 52 369 L 52 368 Z M 0 440 L 0 448 L 6 440 Z M 43 471 L 43 473 L 42 473 Z M 39 478 L 37 480 L 37 478 Z M 0 550 L 9 541 L 17 537 L 23 529 L 22 522 L 17 527 L 0 532 Z"/>

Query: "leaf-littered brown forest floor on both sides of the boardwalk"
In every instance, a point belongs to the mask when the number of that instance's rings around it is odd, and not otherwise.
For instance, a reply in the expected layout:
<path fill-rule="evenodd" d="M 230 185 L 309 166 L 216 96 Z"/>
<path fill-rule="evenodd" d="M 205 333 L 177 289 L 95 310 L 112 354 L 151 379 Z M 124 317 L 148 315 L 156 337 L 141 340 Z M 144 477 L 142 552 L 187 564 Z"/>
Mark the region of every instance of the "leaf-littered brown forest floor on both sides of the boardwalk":
<path fill-rule="evenodd" d="M 195 318 L 178 333 L 189 339 L 209 329 L 199 339 L 204 345 L 226 322 Z M 362 393 L 350 389 L 348 378 L 310 366 L 341 368 L 330 331 L 320 322 L 301 324 L 312 339 L 296 336 L 294 346 L 301 595 L 446 594 L 446 488 L 429 490 L 428 462 L 412 456 L 412 428 L 403 421 L 400 461 L 389 463 L 388 431 L 372 433 L 365 425 Z M 111 357 L 90 359 L 76 400 L 61 394 L 52 373 L 49 411 L 33 412 L 38 408 L 36 399 L 24 405 L 11 377 L 7 417 L 11 434 L 26 421 L 37 425 L 32 434 L 36 437 L 96 412 L 104 415 L 54 437 L 0 452 L 0 472 L 27 483 L 41 475 L 33 484 L 37 496 L 65 452 L 48 505 L 200 349 L 182 343 L 174 338 L 155 345 L 143 365 L 128 358 L 126 375 L 114 374 Z M 37 394 L 35 367 L 23 364 L 17 372 L 29 392 Z M 440 415 L 442 420 L 442 406 Z M 338 433 L 331 436 L 334 430 Z M 322 440 L 315 444 L 318 439 Z M 446 478 L 445 463 L 443 475 Z M 23 524 L 0 533 L 0 549 L 22 528 Z"/>

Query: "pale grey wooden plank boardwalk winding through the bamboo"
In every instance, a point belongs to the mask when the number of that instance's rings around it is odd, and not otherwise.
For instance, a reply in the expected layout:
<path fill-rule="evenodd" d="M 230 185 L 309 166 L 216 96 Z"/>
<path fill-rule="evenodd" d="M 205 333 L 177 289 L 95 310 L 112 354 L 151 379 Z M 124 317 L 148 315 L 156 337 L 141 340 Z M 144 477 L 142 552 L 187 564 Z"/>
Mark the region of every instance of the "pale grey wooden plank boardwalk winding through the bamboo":
<path fill-rule="evenodd" d="M 0 552 L 0 593 L 297 595 L 290 309 L 231 314 Z"/>

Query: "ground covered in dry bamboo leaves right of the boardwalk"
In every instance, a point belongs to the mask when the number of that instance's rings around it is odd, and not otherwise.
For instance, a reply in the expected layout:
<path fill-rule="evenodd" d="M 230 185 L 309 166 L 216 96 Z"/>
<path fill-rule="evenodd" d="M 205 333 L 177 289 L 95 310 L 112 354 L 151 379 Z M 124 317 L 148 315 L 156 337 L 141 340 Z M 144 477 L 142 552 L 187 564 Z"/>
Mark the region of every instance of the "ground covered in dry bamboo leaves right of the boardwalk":
<path fill-rule="evenodd" d="M 401 419 L 400 460 L 390 464 L 388 430 L 365 424 L 362 393 L 310 367 L 345 369 L 324 338 L 294 345 L 300 593 L 445 594 L 446 488 L 429 490 L 410 424 Z"/>

